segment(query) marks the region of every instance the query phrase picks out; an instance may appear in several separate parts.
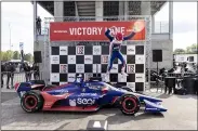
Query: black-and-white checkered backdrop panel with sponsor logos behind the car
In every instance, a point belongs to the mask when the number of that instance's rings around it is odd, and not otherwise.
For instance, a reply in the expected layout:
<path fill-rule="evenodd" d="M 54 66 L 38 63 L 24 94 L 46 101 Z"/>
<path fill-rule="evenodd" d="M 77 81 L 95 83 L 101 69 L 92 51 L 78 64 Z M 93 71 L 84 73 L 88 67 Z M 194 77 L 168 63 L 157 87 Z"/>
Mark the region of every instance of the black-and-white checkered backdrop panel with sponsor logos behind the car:
<path fill-rule="evenodd" d="M 119 82 L 135 91 L 144 90 L 145 54 L 144 45 L 122 45 L 126 58 L 124 77 L 120 74 L 121 62 L 115 60 L 109 74 L 110 82 Z M 63 84 L 72 82 L 76 75 L 82 74 L 84 79 L 104 78 L 108 65 L 108 45 L 51 47 L 51 83 Z"/>

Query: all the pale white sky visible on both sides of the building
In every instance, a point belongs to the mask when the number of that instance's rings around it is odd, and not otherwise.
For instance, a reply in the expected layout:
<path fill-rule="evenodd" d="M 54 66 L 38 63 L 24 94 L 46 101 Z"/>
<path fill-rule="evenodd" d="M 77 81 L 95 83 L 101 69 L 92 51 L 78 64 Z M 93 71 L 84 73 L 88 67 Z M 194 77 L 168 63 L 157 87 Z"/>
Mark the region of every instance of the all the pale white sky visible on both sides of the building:
<path fill-rule="evenodd" d="M 32 53 L 32 4 L 30 2 L 2 2 L 1 12 L 2 50 L 6 51 L 11 49 L 19 51 L 19 42 L 24 42 L 25 53 Z M 52 15 L 40 5 L 38 5 L 38 15 L 41 16 L 41 19 L 44 17 L 52 17 Z M 156 14 L 155 21 L 169 21 L 169 4 L 164 4 L 163 8 Z M 12 45 L 10 45 L 10 40 Z M 185 49 L 192 43 L 197 43 L 197 3 L 174 2 L 173 49 Z"/>

